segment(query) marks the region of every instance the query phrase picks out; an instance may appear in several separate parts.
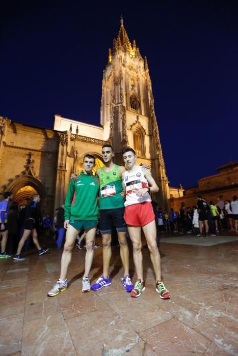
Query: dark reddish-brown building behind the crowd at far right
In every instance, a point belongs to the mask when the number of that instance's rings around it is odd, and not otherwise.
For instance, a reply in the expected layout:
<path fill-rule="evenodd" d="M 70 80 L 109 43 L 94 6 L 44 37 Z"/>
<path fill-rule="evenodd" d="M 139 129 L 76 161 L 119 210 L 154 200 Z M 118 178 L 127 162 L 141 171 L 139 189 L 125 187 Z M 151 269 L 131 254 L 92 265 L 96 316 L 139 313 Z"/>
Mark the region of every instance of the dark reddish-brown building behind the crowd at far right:
<path fill-rule="evenodd" d="M 196 205 L 198 195 L 203 196 L 208 202 L 217 202 L 220 195 L 223 199 L 232 200 L 238 196 L 238 162 L 229 162 L 218 167 L 218 174 L 209 175 L 198 181 L 198 185 L 184 190 L 184 195 L 170 198 L 169 206 L 179 211 L 181 203 L 186 206 Z"/>

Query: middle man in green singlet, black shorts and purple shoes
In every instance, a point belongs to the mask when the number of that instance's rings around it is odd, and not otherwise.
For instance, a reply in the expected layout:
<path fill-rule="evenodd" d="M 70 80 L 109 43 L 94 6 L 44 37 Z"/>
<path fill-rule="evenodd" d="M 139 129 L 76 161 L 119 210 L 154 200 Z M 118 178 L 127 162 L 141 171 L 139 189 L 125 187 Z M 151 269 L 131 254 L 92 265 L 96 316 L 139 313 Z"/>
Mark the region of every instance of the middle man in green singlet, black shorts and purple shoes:
<path fill-rule="evenodd" d="M 121 174 L 125 171 L 124 166 L 113 163 L 113 147 L 110 144 L 102 146 L 102 157 L 104 166 L 98 168 L 96 174 L 100 180 L 99 192 L 99 225 L 102 234 L 103 246 L 103 273 L 96 283 L 92 285 L 93 290 L 101 289 L 111 285 L 109 277 L 110 259 L 112 256 L 112 224 L 114 222 L 120 244 L 120 256 L 124 268 L 123 286 L 125 291 L 130 292 L 134 285 L 129 277 L 129 250 L 126 242 L 126 224 L 124 216 L 124 198 Z"/>

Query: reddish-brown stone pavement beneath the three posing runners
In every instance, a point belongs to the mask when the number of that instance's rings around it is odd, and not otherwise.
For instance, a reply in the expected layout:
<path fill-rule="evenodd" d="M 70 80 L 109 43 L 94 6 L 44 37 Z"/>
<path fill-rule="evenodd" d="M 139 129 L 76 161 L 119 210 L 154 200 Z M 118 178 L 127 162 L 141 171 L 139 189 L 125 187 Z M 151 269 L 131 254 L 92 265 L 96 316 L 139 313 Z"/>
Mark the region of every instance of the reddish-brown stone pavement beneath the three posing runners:
<path fill-rule="evenodd" d="M 33 249 L 25 261 L 0 260 L 0 355 L 238 355 L 237 241 L 161 243 L 171 291 L 166 301 L 155 291 L 147 249 L 139 298 L 122 287 L 119 247 L 113 248 L 112 286 L 82 293 L 85 252 L 74 248 L 69 287 L 54 298 L 47 292 L 59 278 L 62 250 L 51 247 L 38 256 Z M 102 248 L 94 252 L 92 282 L 101 273 Z M 135 281 L 131 247 L 130 259 Z"/>

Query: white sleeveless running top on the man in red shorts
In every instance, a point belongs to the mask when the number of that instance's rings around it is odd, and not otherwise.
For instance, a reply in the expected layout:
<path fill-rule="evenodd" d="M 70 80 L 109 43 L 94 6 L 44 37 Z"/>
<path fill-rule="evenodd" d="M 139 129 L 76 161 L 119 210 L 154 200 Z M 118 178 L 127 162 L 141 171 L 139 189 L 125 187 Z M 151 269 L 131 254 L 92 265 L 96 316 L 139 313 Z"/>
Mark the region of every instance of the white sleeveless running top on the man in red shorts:
<path fill-rule="evenodd" d="M 145 178 L 140 166 L 133 172 L 128 172 L 126 170 L 123 183 L 126 188 L 126 200 L 124 202 L 125 206 L 143 203 L 144 201 L 151 201 L 149 193 L 146 193 L 142 197 L 136 195 L 136 191 L 138 189 L 148 187 L 148 181 Z"/>

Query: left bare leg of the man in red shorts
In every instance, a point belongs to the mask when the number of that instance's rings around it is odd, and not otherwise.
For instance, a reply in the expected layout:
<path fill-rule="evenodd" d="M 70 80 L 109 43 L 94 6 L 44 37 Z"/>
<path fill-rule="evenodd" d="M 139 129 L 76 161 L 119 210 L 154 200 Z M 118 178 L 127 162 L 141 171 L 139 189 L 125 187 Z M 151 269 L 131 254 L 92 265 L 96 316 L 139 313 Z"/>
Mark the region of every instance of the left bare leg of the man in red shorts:
<path fill-rule="evenodd" d="M 133 244 L 133 259 L 137 272 L 137 279 L 144 281 L 143 279 L 143 257 L 142 257 L 142 243 L 141 243 L 141 227 L 129 226 L 127 229 L 130 235 L 130 240 Z"/>

